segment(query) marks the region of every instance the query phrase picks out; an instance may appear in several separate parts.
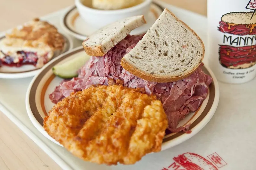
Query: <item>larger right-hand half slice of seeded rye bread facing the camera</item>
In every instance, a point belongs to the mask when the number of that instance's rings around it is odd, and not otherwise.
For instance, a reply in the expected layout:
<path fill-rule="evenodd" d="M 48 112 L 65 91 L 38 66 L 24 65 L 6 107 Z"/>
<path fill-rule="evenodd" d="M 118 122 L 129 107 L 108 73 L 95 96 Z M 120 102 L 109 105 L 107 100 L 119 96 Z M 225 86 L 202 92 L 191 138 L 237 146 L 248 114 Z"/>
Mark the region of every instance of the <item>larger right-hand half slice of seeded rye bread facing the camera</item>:
<path fill-rule="evenodd" d="M 172 82 L 191 75 L 204 58 L 204 43 L 168 9 L 121 60 L 128 72 L 148 81 Z"/>

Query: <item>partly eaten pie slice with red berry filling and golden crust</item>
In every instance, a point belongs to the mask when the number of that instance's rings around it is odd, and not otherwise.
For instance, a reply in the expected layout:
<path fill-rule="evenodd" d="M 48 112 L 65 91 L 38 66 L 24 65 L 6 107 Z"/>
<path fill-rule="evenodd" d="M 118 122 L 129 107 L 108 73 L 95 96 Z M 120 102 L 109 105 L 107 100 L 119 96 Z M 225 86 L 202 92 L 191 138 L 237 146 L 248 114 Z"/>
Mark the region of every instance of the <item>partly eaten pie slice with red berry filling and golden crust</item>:
<path fill-rule="evenodd" d="M 54 54 L 65 48 L 65 39 L 56 27 L 38 18 L 13 29 L 0 40 L 0 60 L 3 65 L 43 67 Z"/>

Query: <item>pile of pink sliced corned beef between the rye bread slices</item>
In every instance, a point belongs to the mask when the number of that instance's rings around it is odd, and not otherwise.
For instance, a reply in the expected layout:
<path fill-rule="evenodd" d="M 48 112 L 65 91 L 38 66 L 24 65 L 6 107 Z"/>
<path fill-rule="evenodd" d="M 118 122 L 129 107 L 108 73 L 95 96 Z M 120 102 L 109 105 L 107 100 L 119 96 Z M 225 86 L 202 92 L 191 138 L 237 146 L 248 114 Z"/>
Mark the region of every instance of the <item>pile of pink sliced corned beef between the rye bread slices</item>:
<path fill-rule="evenodd" d="M 144 34 L 143 34 L 144 35 Z M 143 80 L 130 74 L 120 64 L 122 57 L 128 53 L 143 35 L 130 36 L 119 42 L 103 57 L 91 57 L 79 70 L 79 75 L 72 80 L 65 80 L 50 94 L 53 103 L 57 103 L 91 85 L 108 85 L 108 78 L 121 79 L 124 86 L 130 88 L 145 88 L 147 94 L 155 94 L 162 101 L 165 113 L 169 120 L 169 130 L 188 131 L 188 126 L 177 128 L 178 123 L 190 111 L 196 111 L 208 94 L 208 86 L 212 78 L 199 67 L 189 77 L 170 83 L 156 83 Z"/>

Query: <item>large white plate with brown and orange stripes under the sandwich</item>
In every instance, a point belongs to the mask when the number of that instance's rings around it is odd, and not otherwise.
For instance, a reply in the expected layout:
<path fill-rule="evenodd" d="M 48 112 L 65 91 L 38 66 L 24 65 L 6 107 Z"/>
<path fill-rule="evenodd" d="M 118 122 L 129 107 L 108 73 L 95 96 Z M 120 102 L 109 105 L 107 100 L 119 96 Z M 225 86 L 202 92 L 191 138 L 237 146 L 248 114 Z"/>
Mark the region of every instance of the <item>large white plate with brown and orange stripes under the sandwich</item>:
<path fill-rule="evenodd" d="M 52 103 L 49 99 L 49 95 L 54 91 L 55 87 L 60 84 L 60 81 L 63 80 L 53 74 L 52 67 L 81 55 L 86 56 L 84 49 L 83 47 L 77 47 L 72 51 L 64 53 L 63 55 L 53 59 L 43 68 L 43 70 L 40 71 L 37 76 L 33 78 L 26 94 L 26 109 L 31 122 L 46 138 L 58 145 L 61 144 L 50 137 L 43 128 L 44 117 L 47 116 L 47 113 L 54 106 L 54 103 Z M 194 136 L 210 121 L 218 106 L 218 82 L 209 68 L 203 66 L 202 69 L 206 74 L 213 78 L 213 81 L 209 86 L 208 95 L 199 109 L 195 112 L 189 113 L 183 120 L 180 121 L 178 125 L 179 127 L 191 124 L 190 129 L 192 132 L 188 134 L 184 132 L 170 133 L 170 131 L 166 131 L 162 150 L 178 145 Z"/>

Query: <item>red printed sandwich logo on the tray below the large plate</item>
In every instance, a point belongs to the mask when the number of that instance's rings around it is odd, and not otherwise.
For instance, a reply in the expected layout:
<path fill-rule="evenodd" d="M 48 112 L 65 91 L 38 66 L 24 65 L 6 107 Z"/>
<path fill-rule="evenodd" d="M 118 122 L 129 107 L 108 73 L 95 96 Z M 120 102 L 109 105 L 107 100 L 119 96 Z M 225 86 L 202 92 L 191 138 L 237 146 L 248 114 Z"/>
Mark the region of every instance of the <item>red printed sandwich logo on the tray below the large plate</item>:
<path fill-rule="evenodd" d="M 210 159 L 210 160 L 207 160 Z M 196 153 L 183 153 L 174 157 L 168 167 L 164 167 L 161 170 L 218 170 L 227 163 L 215 152 L 204 158 Z"/>

